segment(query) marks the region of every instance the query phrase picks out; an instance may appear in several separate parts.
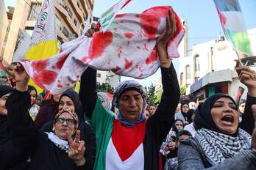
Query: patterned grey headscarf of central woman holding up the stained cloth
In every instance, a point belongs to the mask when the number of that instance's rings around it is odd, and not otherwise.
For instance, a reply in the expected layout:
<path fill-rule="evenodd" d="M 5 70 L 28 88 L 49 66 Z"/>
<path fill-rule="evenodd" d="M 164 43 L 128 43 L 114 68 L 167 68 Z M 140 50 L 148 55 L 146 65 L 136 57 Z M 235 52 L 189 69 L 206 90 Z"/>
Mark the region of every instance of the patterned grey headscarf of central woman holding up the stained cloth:
<path fill-rule="evenodd" d="M 122 81 L 120 84 L 118 84 L 118 86 L 115 88 L 114 94 L 113 94 L 113 105 L 116 108 L 119 108 L 118 104 L 119 104 L 119 99 L 121 97 L 121 95 L 124 92 L 127 92 L 127 90 L 136 90 L 139 93 L 141 93 L 141 97 L 143 99 L 143 106 L 142 106 L 142 113 L 141 113 L 141 117 L 139 117 L 138 120 L 136 120 L 135 122 L 128 122 L 126 119 L 124 119 L 120 112 L 118 113 L 118 119 L 121 121 L 121 123 L 127 127 L 132 127 L 134 125 L 136 125 L 139 122 L 142 122 L 143 120 L 145 120 L 145 115 L 143 114 L 143 111 L 146 108 L 146 90 L 144 89 L 144 87 L 138 83 L 138 81 L 134 81 L 134 80 L 127 80 L 127 81 Z"/>

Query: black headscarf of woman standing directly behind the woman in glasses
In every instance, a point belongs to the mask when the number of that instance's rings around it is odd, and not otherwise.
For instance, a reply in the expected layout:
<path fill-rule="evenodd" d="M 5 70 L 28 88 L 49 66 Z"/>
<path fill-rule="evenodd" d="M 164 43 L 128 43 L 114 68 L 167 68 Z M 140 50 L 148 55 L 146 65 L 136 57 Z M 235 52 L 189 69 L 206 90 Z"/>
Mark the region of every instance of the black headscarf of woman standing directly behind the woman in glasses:
<path fill-rule="evenodd" d="M 77 92 L 75 92 L 73 89 L 67 89 L 65 92 L 63 92 L 63 95 L 60 96 L 60 99 L 63 96 L 67 96 L 67 97 L 71 98 L 71 100 L 74 103 L 74 111 L 77 114 L 78 121 L 84 122 L 84 117 L 83 117 L 84 110 L 82 108 L 82 104 L 79 100 L 79 95 L 77 94 Z M 59 105 L 60 105 L 60 102 L 59 102 Z"/>

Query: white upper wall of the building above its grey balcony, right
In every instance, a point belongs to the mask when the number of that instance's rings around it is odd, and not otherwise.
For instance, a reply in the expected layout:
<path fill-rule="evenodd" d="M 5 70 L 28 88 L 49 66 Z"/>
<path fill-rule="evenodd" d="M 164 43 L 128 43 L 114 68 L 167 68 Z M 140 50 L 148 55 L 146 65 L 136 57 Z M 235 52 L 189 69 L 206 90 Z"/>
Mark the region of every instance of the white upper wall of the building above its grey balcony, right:
<path fill-rule="evenodd" d="M 252 52 L 256 54 L 256 28 L 248 30 L 249 38 L 251 40 Z M 183 48 L 183 44 L 182 48 Z M 213 48 L 213 51 L 211 51 Z M 199 72 L 195 73 L 195 61 L 194 56 L 199 55 Z M 183 73 L 183 84 L 193 84 L 195 82 L 195 77 L 202 78 L 207 73 L 218 70 L 230 69 L 234 70 L 235 62 L 238 59 L 237 54 L 232 48 L 229 41 L 218 41 L 212 40 L 198 45 L 193 45 L 191 56 L 180 56 L 179 57 L 179 84 L 180 84 L 180 74 Z M 191 66 L 191 78 L 187 79 L 185 77 L 185 67 L 187 65 Z M 187 79 L 187 80 L 186 80 Z"/>

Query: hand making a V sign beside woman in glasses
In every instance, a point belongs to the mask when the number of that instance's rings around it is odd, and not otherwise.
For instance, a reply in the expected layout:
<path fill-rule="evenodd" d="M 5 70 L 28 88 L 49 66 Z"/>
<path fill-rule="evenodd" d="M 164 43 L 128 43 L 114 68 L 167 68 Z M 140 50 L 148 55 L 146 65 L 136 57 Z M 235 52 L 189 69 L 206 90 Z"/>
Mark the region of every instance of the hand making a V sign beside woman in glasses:
<path fill-rule="evenodd" d="M 82 166 L 85 164 L 85 141 L 80 141 L 80 130 L 77 130 L 75 140 L 73 141 L 71 135 L 68 137 L 68 157 L 74 160 L 77 166 Z"/>

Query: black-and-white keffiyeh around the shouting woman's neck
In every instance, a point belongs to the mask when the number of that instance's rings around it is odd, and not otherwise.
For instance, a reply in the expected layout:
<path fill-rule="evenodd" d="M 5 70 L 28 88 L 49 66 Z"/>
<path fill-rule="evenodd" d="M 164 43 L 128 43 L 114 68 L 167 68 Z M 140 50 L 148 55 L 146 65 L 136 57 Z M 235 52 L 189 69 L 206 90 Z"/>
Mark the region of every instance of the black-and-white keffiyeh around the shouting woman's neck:
<path fill-rule="evenodd" d="M 212 165 L 223 163 L 225 159 L 232 158 L 236 152 L 249 149 L 252 141 L 252 136 L 240 128 L 237 136 L 202 128 L 196 131 L 195 138 Z"/>

